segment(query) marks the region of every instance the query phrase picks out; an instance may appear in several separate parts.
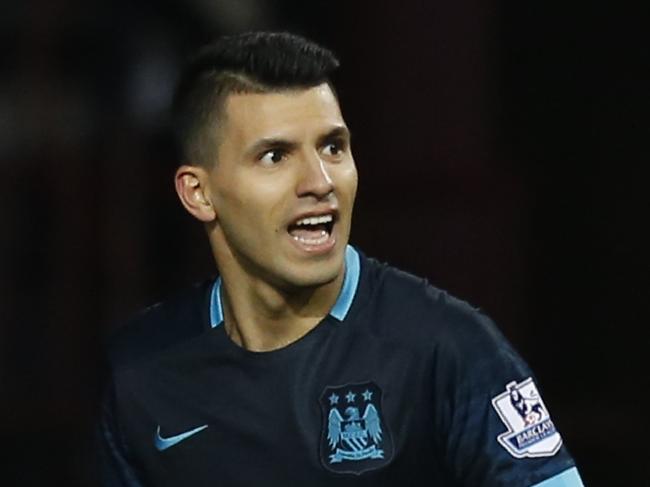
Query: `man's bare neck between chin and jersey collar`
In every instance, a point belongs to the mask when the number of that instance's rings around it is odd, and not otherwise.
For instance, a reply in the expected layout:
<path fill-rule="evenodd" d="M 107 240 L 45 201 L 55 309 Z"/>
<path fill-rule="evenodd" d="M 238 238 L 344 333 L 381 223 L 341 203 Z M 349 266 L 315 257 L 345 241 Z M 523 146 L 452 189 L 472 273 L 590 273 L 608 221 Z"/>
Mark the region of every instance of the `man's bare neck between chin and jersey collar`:
<path fill-rule="evenodd" d="M 256 352 L 283 348 L 312 330 L 332 309 L 344 269 L 331 282 L 307 288 L 279 288 L 217 257 L 222 278 L 224 326 L 239 346 Z"/>

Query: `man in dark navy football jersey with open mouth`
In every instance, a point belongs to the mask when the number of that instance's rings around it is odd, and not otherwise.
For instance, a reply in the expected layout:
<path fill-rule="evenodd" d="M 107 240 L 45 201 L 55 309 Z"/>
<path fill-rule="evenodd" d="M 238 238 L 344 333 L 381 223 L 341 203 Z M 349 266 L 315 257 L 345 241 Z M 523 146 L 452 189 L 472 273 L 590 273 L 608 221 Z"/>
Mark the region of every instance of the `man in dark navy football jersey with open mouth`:
<path fill-rule="evenodd" d="M 252 33 L 188 70 L 176 190 L 220 277 L 115 338 L 105 484 L 581 486 L 490 320 L 348 245 L 337 66 L 303 38 Z"/>

